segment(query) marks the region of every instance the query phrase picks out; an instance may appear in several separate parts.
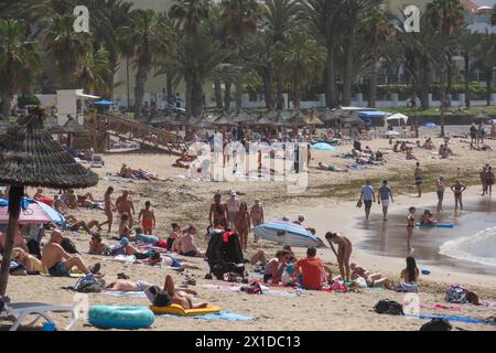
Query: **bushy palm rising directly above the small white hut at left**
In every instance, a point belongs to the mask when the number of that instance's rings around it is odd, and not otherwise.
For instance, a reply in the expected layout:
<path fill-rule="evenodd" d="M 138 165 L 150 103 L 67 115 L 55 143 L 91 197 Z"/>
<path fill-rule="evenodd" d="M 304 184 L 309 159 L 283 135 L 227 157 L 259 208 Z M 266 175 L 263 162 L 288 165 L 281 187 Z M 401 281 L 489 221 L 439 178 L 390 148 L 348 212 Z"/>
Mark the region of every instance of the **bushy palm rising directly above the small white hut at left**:
<path fill-rule="evenodd" d="M 56 65 L 58 88 L 74 88 L 73 77 L 91 51 L 91 35 L 74 31 L 74 17 L 55 14 L 44 36 L 46 53 Z"/>

